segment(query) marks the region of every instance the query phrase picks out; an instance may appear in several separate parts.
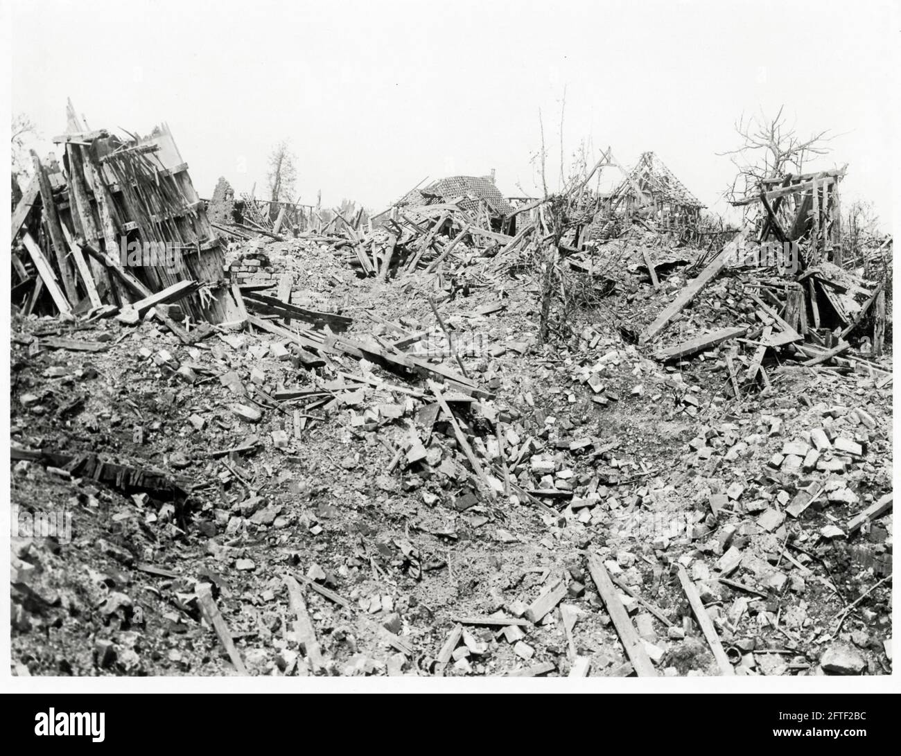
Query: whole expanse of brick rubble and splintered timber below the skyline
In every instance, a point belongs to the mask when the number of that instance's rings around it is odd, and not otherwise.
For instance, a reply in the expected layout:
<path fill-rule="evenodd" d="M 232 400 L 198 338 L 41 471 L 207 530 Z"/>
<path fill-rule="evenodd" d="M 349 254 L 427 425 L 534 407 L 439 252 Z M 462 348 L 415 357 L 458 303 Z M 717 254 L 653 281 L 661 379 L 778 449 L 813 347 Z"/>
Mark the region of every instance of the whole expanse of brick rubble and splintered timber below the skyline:
<path fill-rule="evenodd" d="M 825 223 L 788 275 L 584 183 L 503 227 L 249 200 L 150 280 L 64 184 L 14 241 L 56 287 L 14 301 L 14 674 L 891 672 L 890 308 Z"/>

